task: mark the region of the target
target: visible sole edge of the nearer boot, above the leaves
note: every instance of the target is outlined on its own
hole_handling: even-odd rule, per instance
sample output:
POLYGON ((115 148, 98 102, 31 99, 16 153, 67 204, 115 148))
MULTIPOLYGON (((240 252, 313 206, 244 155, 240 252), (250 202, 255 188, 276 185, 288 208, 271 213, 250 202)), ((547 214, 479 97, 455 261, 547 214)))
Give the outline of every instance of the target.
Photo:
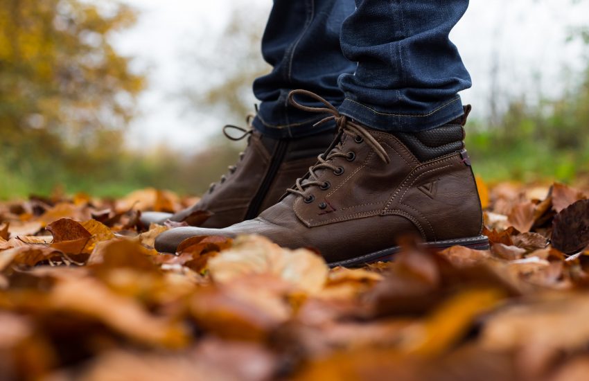
MULTIPOLYGON (((419 248, 429 251, 442 251, 448 249, 448 247, 463 246, 468 249, 474 250, 489 250, 489 238, 486 236, 478 236, 472 238, 461 238, 459 240, 446 240, 437 242, 427 242, 419 245, 419 248)), ((340 260, 333 263, 328 263, 329 267, 359 267, 363 265, 369 265, 376 262, 389 262, 401 251, 401 247, 391 247, 380 251, 375 251, 371 254, 359 256, 351 259, 340 260)))

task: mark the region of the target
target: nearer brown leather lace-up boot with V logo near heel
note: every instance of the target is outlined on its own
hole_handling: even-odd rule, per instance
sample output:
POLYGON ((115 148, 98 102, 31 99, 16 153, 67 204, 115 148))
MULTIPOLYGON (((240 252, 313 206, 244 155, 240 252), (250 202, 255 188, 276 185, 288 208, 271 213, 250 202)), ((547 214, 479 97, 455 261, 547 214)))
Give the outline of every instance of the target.
POLYGON ((407 236, 434 249, 489 248, 463 143, 470 108, 428 132, 391 134, 350 121, 322 102, 327 108, 313 111, 332 114, 328 119, 335 119, 340 134, 281 202, 226 229, 171 229, 157 238, 156 249, 175 252, 191 236, 260 234, 283 247, 317 249, 332 266, 352 266, 389 259, 407 236))

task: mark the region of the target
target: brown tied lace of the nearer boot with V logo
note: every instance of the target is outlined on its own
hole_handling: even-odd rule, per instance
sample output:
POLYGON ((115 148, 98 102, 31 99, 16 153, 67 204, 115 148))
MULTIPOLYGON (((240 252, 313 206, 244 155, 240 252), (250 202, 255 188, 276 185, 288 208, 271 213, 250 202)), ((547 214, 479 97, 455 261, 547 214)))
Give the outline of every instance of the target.
POLYGON ((315 196, 306 196, 305 191, 307 188, 310 188, 312 186, 319 186, 323 190, 326 190, 331 186, 331 184, 329 184, 328 182, 319 181, 319 177, 316 174, 317 170, 333 170, 333 173, 335 175, 343 175, 344 168, 341 166, 335 166, 333 164, 333 159, 335 159, 336 157, 345 157, 349 161, 353 161, 355 159, 354 152, 342 152, 342 136, 344 134, 346 134, 346 136, 349 136, 351 139, 354 139, 356 143, 367 143, 370 146, 370 148, 374 150, 374 152, 376 152, 378 157, 383 162, 387 164, 390 163, 391 160, 389 158, 389 155, 387 154, 387 151, 385 150, 385 148, 383 148, 382 145, 380 145, 380 143, 378 143, 378 141, 376 141, 374 136, 372 136, 364 127, 362 127, 358 123, 355 123, 347 116, 340 114, 340 112, 337 111, 337 108, 335 108, 333 105, 331 105, 331 103, 329 103, 321 96, 318 96, 317 94, 307 90, 294 90, 290 91, 290 94, 288 95, 288 100, 291 105, 303 111, 315 112, 318 114, 329 114, 329 116, 327 116, 326 118, 323 118, 321 121, 315 123, 314 127, 327 123, 328 121, 335 121, 338 130, 337 139, 335 139, 332 146, 328 149, 326 153, 320 154, 319 157, 317 157, 317 163, 315 164, 315 166, 309 168, 309 172, 305 177, 297 179, 294 188, 286 190, 288 193, 293 193, 295 195, 305 197, 305 202, 310 203, 313 202, 313 200, 315 200, 315 196), (323 103, 325 107, 308 107, 305 105, 301 105, 294 98, 298 95, 306 96, 308 98, 317 100, 320 103, 323 103))

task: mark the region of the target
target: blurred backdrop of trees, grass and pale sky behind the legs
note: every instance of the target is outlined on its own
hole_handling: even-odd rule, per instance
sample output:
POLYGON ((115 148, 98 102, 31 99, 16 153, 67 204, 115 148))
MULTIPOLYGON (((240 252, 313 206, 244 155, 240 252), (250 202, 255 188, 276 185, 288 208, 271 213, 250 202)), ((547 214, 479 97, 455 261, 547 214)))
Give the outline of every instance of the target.
MULTIPOLYGON (((244 142, 270 0, 2 0, 0 198, 199 194, 244 142)), ((452 40, 486 181, 589 175, 589 0, 471 1, 452 40)))

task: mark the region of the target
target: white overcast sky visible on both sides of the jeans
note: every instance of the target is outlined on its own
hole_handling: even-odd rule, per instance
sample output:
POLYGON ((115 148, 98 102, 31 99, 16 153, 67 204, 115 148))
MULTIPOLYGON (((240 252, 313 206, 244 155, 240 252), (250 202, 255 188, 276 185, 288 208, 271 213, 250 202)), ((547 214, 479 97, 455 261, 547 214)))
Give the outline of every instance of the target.
MULTIPOLYGON (((214 41, 229 19, 228 9, 238 2, 254 3, 265 12, 271 0, 125 0, 141 11, 139 22, 116 36, 121 53, 137 57, 134 65, 148 69, 150 86, 140 98, 141 116, 130 129, 132 146, 169 143, 182 150, 198 150, 225 123, 211 115, 202 121, 186 113, 186 105, 172 94, 182 78, 206 78, 186 72, 187 46, 215 54, 214 41), (183 62, 184 60, 184 62, 183 62)), ((294 1, 294 0, 293 0, 294 1)), ((262 12, 263 13, 263 12, 262 12)), ((547 95, 562 91, 564 67, 582 67, 580 44, 565 44, 569 26, 589 24, 589 1, 570 6, 568 0, 473 0, 466 16, 452 32, 473 89, 461 94, 472 103, 475 115, 489 112, 488 98, 493 64, 500 68, 500 89, 511 95, 547 95), (540 80, 538 80, 538 77, 540 80)), ((265 17, 265 15, 263 15, 265 17)))

